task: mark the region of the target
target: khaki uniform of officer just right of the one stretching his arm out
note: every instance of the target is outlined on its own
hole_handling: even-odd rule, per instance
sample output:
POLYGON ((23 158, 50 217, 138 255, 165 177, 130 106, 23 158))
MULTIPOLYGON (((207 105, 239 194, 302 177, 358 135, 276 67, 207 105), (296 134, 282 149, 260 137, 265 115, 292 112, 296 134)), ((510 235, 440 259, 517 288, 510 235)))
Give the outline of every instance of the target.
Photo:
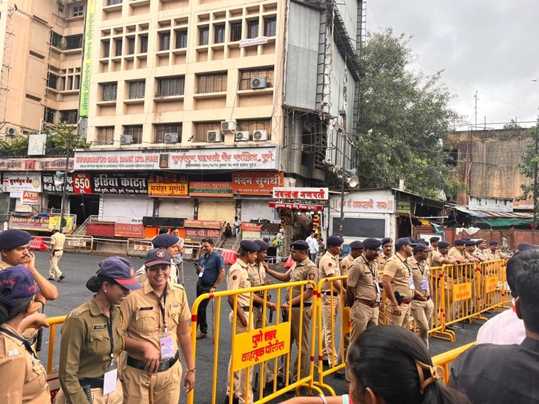
MULTIPOLYGON (((333 256, 330 251, 326 251, 318 264, 318 279, 340 275, 339 256, 333 256)), ((330 366, 334 366, 337 361, 337 347, 334 346, 337 333, 335 327, 332 332, 332 322, 335 326, 340 308, 340 293, 335 288, 331 288, 329 282, 322 283, 320 293, 322 302, 322 359, 327 359, 330 366)))

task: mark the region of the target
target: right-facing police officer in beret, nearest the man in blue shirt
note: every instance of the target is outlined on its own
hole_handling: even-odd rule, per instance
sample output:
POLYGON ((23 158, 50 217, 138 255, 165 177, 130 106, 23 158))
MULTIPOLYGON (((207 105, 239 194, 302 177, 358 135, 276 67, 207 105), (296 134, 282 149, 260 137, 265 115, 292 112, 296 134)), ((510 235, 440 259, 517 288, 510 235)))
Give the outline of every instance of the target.
MULTIPOLYGON (((251 288, 251 280, 249 274, 249 266, 254 265, 256 261, 256 253, 260 251, 260 246, 253 241, 244 240, 239 244, 239 258, 232 264, 227 273, 227 290, 241 290, 251 288)), ((253 311, 251 310, 251 294, 240 293, 237 298, 234 295, 229 295, 228 302, 232 308, 229 320, 235 334, 242 334, 253 329, 253 311), (237 301, 237 307, 234 300, 237 301), (235 316, 235 318, 234 318, 235 316), (235 327, 234 327, 235 324, 235 327)), ((263 305, 262 297, 254 294, 253 304, 258 303, 263 305)), ((227 373, 227 397, 224 403, 230 402, 231 391, 234 394, 232 403, 253 403, 253 388, 251 382, 253 380, 253 367, 244 368, 241 371, 234 372, 233 386, 231 388, 230 371, 232 370, 232 356, 230 356, 229 369, 227 373), (249 371, 249 380, 247 380, 247 372, 249 371)))

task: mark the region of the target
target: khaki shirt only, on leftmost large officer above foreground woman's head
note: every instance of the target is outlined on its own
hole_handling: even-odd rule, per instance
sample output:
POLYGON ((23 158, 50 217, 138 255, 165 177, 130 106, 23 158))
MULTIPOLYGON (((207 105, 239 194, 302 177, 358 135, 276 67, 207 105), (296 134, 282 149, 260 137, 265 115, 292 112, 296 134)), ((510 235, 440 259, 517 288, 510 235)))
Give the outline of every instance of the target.
POLYGON ((380 300, 378 268, 378 261, 368 261, 364 255, 354 260, 347 278, 347 288, 354 288, 354 298, 371 302, 380 300))

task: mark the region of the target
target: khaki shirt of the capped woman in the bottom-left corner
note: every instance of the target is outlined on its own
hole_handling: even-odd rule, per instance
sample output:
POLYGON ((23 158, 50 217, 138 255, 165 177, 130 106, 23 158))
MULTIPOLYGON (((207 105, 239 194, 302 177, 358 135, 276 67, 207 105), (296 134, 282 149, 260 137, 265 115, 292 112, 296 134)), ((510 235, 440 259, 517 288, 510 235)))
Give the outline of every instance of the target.
MULTIPOLYGON (((8 324, 0 327, 22 337, 8 324)), ((4 381, 0 393, 2 404, 50 403, 45 368, 26 351, 21 341, 4 332, 0 332, 0 375, 4 381)))

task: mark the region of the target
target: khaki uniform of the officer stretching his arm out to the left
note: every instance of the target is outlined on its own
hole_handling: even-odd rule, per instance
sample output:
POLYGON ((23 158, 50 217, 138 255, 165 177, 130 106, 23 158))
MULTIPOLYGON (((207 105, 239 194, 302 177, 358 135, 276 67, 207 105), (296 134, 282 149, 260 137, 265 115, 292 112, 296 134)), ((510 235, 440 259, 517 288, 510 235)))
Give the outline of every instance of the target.
MULTIPOLYGON (((310 261, 309 258, 303 260, 300 263, 294 262, 293 266, 286 272, 290 276, 290 282, 300 282, 302 280, 312 280, 314 283, 318 282, 318 268, 315 263, 310 261)), ((310 283, 305 286, 294 286, 292 288, 292 296, 286 292, 285 299, 290 302, 293 297, 301 295, 301 290, 305 288, 314 289, 315 287, 310 283)), ((301 312, 300 304, 290 305, 288 309, 288 321, 291 322, 290 327, 290 352, 292 352, 292 344, 295 342, 298 345, 298 357, 294 361, 293 377, 298 376, 298 364, 300 366, 300 378, 304 378, 309 373, 309 337, 310 337, 310 322, 312 319, 312 297, 307 300, 303 300, 303 312, 301 312), (303 315, 302 328, 300 330, 300 316, 303 315), (300 350, 301 344, 301 350, 300 350)), ((283 375, 283 366, 285 366, 285 358, 283 358, 283 364, 279 373, 283 375)))

